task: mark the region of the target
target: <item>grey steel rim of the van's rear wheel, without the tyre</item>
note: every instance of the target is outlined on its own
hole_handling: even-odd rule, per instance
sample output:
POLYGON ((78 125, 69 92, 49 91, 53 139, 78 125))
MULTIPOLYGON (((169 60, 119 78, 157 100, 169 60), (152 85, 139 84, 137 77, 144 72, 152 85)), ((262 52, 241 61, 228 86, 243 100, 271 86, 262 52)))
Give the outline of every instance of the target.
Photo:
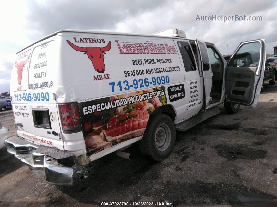
POLYGON ((163 152, 168 149, 171 142, 171 131, 167 124, 161 124, 155 132, 156 148, 163 152))

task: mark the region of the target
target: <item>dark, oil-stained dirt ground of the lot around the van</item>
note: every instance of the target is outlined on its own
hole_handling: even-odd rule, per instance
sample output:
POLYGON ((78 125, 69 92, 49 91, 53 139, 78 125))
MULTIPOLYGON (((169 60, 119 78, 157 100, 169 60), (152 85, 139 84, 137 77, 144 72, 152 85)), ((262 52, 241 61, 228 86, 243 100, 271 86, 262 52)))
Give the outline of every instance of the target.
MULTIPOLYGON (((75 169, 72 186, 48 184, 43 171, 31 171, 4 148, 0 205, 277 205, 277 84, 265 85, 257 108, 241 106, 236 114, 219 109, 217 116, 177 132, 168 159, 149 161, 135 144, 127 149, 134 155, 130 161, 112 153, 75 169)), ((0 122, 16 134, 11 110, 0 112, 0 122)))

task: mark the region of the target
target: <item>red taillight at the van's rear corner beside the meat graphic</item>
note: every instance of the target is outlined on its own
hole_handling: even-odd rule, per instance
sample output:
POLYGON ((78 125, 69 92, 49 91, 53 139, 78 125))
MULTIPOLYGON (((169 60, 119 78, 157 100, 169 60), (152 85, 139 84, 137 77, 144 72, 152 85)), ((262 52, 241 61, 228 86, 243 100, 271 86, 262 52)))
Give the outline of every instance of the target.
POLYGON ((77 102, 59 104, 59 110, 64 133, 75 133, 82 130, 77 102))

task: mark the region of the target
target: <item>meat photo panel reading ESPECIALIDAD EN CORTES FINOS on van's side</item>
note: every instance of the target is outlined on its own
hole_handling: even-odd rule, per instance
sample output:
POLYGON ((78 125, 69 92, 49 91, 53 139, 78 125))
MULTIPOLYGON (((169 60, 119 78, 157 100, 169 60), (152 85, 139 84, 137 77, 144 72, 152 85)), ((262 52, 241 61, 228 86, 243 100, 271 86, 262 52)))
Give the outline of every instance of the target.
POLYGON ((84 112, 80 116, 87 152, 98 153, 142 136, 151 114, 166 104, 165 87, 130 91, 80 103, 79 110, 84 112), (89 111, 89 108, 100 105, 101 110, 89 111))

